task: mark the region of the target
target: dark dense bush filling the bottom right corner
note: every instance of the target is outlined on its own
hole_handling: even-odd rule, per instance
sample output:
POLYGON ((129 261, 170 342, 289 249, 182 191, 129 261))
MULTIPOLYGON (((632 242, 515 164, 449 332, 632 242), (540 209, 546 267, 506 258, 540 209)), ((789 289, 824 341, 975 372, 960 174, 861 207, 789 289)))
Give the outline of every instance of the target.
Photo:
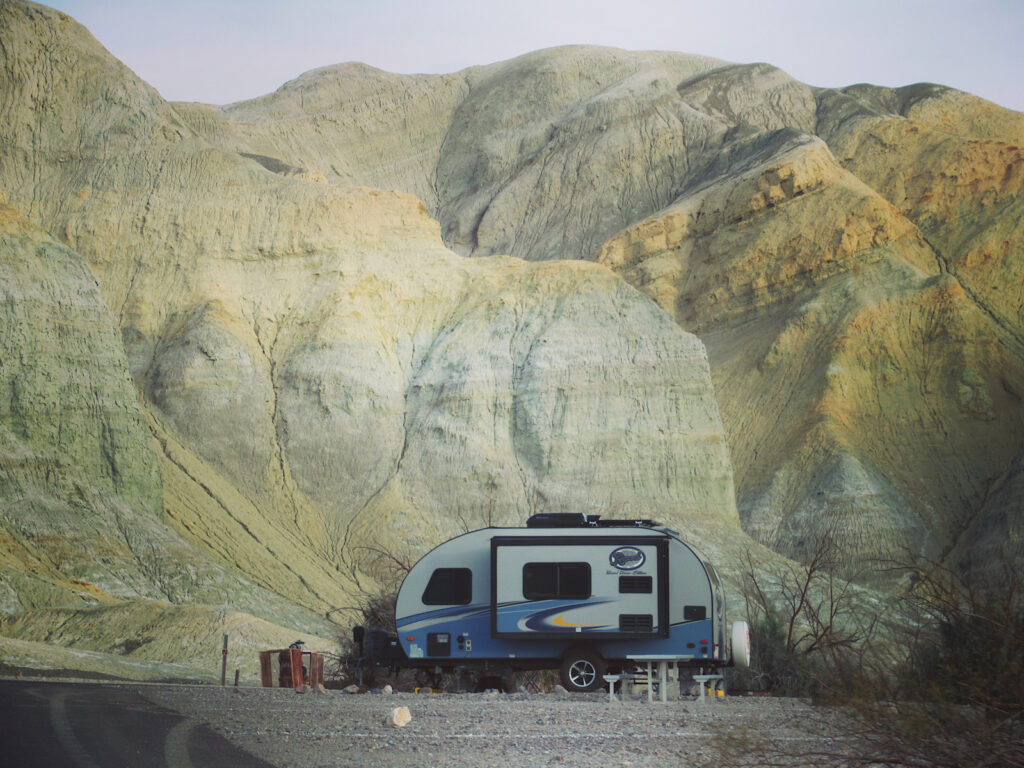
POLYGON ((857 710, 865 740, 903 766, 1024 766, 1024 584, 980 584, 937 563, 911 574, 897 640, 905 662, 884 707, 857 710))

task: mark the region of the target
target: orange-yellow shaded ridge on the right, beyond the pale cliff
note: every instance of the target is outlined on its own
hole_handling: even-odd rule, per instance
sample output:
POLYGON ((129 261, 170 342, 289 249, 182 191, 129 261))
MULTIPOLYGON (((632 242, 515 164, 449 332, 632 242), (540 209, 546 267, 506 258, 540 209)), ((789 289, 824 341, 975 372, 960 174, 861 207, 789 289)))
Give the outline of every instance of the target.
MULTIPOLYGON (((819 101, 827 143, 776 140, 598 260, 708 345, 749 532, 963 558, 1024 437, 1024 122, 944 89, 819 101)), ((1019 556, 994 540, 969 559, 1019 556)))

